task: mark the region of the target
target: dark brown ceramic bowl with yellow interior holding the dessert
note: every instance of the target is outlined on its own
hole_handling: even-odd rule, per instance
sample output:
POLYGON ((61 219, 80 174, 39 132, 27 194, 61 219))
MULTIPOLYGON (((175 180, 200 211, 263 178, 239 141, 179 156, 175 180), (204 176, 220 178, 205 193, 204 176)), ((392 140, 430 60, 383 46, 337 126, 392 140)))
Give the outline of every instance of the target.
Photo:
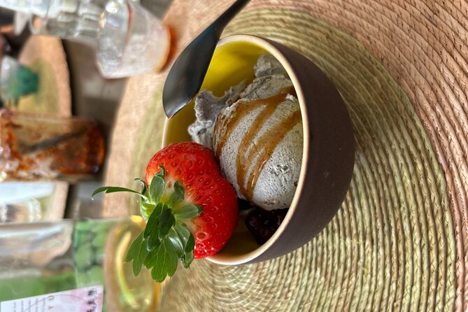
MULTIPOLYGON (((304 129, 299 183, 288 214, 271 239, 259 246, 240 218, 225 248, 208 258, 218 264, 269 260, 311 241, 338 211, 353 173, 353 128, 343 100, 327 76, 295 50, 257 36, 223 38, 201 88, 221 97, 229 87, 252 80, 253 66, 265 53, 283 64, 299 100, 304 129)), ((183 129, 193 121, 190 104, 166 121, 163 145, 190 141, 183 129)))

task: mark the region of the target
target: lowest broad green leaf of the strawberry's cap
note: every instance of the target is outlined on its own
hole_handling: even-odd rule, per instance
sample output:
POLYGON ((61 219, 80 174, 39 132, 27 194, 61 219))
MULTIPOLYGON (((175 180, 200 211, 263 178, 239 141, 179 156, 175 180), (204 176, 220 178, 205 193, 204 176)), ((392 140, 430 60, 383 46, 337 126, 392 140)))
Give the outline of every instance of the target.
POLYGON ((162 282, 166 276, 173 276, 177 269, 177 252, 171 241, 166 238, 159 247, 147 257, 146 267, 151 269, 151 276, 157 282, 162 282))

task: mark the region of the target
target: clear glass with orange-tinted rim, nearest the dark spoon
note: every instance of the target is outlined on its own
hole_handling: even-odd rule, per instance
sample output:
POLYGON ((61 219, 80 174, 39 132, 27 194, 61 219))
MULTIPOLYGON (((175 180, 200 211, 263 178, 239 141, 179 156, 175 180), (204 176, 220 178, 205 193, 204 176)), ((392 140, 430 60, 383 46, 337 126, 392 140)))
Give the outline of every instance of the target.
POLYGON ((166 62, 169 45, 167 27, 138 2, 107 3, 97 45, 97 64, 104 77, 157 71, 166 62))

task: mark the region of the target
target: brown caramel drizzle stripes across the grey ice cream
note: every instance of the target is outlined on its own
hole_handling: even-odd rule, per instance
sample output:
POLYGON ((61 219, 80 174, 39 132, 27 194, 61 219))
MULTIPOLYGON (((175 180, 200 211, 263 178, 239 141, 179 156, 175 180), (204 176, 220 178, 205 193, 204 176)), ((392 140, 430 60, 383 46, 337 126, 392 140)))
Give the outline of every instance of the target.
POLYGON ((257 184, 260 173, 264 165, 270 159, 276 146, 278 146, 284 136, 302 120, 301 112, 295 111, 260 136, 256 143, 253 141, 262 128, 264 120, 267 120, 274 113, 278 105, 285 101, 287 94, 295 94, 294 88, 288 87, 281 90, 280 94, 276 94, 273 97, 255 99, 236 106, 236 109, 232 112, 229 123, 227 123, 227 118, 225 116, 222 116, 222 118, 218 120, 218 122, 220 122, 220 127, 216 127, 215 129, 215 140, 220 139, 218 148, 216 149, 216 155, 220 156, 222 148, 225 146, 227 139, 229 139, 229 136, 239 124, 240 120, 255 108, 264 106, 262 111, 255 117, 255 120, 253 120, 252 125, 247 129, 245 136, 243 136, 236 158, 237 184, 239 185, 241 193, 247 200, 252 199, 253 191, 255 190, 255 185, 257 184), (255 155, 258 155, 257 159, 254 158, 255 155), (255 163, 253 159, 255 159, 255 163), (249 169, 250 174, 247 176, 249 169))

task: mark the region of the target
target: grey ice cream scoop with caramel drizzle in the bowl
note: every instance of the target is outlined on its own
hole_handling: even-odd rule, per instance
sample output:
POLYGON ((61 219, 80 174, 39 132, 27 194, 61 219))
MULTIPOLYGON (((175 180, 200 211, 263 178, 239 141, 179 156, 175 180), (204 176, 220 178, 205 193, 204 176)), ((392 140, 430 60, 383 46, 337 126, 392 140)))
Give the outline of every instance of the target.
POLYGON ((210 146, 237 196, 267 210, 287 208, 302 164, 302 118, 291 80, 271 55, 255 65, 255 79, 224 97, 201 92, 195 101, 194 141, 210 146), (233 104, 234 99, 238 98, 233 104))

